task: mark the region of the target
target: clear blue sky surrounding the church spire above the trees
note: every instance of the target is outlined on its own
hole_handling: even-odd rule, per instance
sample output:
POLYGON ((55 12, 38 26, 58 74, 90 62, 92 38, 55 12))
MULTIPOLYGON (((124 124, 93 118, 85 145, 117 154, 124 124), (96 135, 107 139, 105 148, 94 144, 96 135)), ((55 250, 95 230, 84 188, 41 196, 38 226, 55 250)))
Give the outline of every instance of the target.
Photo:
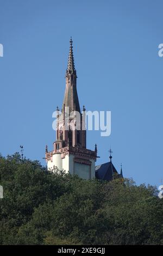
POLYGON ((80 106, 111 111, 111 135, 87 132, 109 160, 137 184, 159 186, 162 162, 162 1, 0 0, 0 152, 42 159, 55 139, 70 36, 80 106))

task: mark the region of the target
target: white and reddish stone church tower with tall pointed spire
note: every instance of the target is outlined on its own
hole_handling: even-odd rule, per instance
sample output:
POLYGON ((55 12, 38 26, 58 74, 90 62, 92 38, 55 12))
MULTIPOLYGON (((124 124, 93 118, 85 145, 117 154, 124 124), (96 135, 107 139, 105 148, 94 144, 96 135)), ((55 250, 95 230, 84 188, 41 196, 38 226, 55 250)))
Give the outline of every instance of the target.
POLYGON ((66 70, 66 89, 61 112, 57 107, 56 140, 48 152, 46 162, 49 170, 64 169, 83 179, 95 178, 95 151, 86 149, 85 107, 80 111, 77 93, 77 72, 74 66, 72 39, 66 70))

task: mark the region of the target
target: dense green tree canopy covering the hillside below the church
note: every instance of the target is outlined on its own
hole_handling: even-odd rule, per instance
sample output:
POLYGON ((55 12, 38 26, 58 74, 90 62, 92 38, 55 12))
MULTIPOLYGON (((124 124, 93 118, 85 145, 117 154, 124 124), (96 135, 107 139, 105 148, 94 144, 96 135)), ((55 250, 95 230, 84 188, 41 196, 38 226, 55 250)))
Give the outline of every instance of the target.
POLYGON ((0 156, 1 245, 163 245, 163 199, 133 180, 47 172, 0 156))

